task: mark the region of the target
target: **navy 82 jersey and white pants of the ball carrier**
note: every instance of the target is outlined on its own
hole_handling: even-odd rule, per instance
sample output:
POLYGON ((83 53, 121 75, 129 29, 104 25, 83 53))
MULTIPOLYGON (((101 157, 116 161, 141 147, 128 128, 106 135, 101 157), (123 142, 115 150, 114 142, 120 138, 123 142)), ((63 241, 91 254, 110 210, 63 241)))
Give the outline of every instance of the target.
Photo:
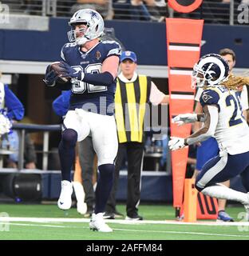
MULTIPOLYGON (((88 52, 81 52, 75 43, 67 43, 61 49, 61 58, 75 70, 84 73, 101 73, 102 62, 109 56, 119 56, 121 48, 117 42, 99 42, 88 52)), ((97 153, 98 166, 113 163, 117 154, 117 128, 113 116, 116 81, 111 85, 93 85, 71 79, 67 84, 72 95, 69 112, 65 115, 64 129, 77 131, 77 141, 89 134, 97 153)))

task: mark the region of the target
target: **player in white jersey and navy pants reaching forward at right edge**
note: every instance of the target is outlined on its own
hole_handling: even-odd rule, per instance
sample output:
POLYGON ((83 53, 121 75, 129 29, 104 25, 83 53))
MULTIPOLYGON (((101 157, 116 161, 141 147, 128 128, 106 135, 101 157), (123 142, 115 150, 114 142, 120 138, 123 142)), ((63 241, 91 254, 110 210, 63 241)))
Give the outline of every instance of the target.
POLYGON ((208 161, 196 177, 196 189, 214 198, 241 202, 249 214, 249 194, 219 184, 241 174, 249 191, 249 127, 243 117, 236 88, 249 78, 228 76, 228 64, 218 54, 207 54, 194 66, 192 85, 204 88, 200 97, 204 114, 180 114, 176 123, 204 122, 188 138, 172 138, 170 150, 179 150, 211 136, 219 144, 219 155, 208 161))

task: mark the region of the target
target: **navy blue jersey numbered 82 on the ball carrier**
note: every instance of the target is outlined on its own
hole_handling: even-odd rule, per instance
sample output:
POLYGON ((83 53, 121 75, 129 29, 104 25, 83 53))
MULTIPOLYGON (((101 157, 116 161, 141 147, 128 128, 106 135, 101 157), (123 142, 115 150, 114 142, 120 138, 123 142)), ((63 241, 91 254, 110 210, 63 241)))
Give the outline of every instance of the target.
MULTIPOLYGON (((102 63, 109 56, 121 55, 121 46, 115 41, 99 42, 87 52, 80 49, 75 43, 66 43, 61 49, 61 58, 75 70, 90 74, 101 73, 102 63)), ((69 110, 83 108, 97 114, 113 115, 116 80, 109 86, 74 81, 70 87, 72 95, 69 110)))

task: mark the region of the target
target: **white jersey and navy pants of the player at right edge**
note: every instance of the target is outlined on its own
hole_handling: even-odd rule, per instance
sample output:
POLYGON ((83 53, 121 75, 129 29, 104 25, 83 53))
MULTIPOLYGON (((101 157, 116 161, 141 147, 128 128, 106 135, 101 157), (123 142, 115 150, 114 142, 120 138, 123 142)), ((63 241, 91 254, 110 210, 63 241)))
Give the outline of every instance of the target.
POLYGON ((245 182, 245 179, 249 180, 249 127, 242 114, 239 95, 233 90, 217 86, 204 90, 200 104, 218 108, 214 137, 220 152, 204 165, 196 178, 196 188, 202 190, 243 173, 243 183, 249 191, 249 184, 245 182))

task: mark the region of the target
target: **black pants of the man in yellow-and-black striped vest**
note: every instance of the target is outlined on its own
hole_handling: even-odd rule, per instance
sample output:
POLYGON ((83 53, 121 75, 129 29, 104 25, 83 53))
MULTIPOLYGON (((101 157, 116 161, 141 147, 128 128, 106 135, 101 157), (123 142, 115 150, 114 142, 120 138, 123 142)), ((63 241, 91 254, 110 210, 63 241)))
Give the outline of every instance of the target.
POLYGON ((140 178, 141 169, 144 158, 144 144, 140 142, 119 143, 117 160, 115 165, 115 174, 113 182, 113 190, 107 202, 106 211, 114 212, 116 210, 116 194, 124 156, 127 154, 128 161, 128 186, 127 186, 127 203, 126 213, 128 217, 136 216, 137 206, 140 202, 140 178))

